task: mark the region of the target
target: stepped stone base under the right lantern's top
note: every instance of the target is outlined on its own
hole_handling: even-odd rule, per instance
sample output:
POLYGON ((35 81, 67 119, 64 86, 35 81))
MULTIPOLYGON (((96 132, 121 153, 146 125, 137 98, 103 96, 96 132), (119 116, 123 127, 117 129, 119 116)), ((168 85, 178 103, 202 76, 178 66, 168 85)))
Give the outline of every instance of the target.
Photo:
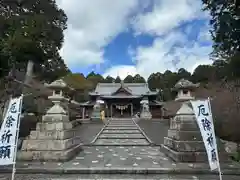
MULTIPOLYGON (((226 154, 219 144, 218 148, 221 161, 226 161, 226 154)), ((194 111, 187 102, 182 104, 171 120, 168 135, 164 137, 162 151, 176 162, 208 162, 194 111)))

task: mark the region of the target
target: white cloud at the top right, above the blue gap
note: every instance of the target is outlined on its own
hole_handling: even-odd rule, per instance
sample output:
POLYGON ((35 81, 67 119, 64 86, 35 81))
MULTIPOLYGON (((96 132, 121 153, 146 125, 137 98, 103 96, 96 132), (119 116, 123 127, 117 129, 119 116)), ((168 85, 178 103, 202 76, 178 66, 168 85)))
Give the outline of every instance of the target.
POLYGON ((201 7, 196 0, 156 0, 153 11, 137 16, 133 26, 137 33, 162 35, 186 21, 205 17, 201 7))

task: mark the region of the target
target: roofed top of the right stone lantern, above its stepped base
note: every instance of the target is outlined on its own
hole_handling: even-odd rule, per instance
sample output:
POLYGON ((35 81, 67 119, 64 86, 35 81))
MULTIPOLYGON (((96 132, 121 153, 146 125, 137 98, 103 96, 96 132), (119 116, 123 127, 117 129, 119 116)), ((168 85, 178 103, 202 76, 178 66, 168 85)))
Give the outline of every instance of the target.
POLYGON ((199 87, 199 84, 194 84, 186 79, 179 80, 173 90, 177 92, 175 101, 188 101, 195 99, 192 92, 199 87))

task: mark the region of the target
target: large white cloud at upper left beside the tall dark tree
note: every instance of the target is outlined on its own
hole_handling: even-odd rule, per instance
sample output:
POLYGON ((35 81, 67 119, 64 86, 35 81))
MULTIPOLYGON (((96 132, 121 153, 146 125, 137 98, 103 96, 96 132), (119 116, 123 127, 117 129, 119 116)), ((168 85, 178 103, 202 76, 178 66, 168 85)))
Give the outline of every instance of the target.
POLYGON ((137 0, 57 0, 68 16, 68 29, 60 53, 66 64, 86 66, 104 61, 104 46, 127 28, 137 0))

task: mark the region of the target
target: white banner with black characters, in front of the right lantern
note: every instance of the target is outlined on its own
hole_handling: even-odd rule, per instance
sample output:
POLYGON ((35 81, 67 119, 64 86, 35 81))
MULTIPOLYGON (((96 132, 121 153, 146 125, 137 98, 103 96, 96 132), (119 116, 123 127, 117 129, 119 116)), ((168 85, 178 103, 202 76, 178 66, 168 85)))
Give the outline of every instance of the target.
POLYGON ((217 142, 209 100, 191 101, 211 170, 219 168, 217 142))

